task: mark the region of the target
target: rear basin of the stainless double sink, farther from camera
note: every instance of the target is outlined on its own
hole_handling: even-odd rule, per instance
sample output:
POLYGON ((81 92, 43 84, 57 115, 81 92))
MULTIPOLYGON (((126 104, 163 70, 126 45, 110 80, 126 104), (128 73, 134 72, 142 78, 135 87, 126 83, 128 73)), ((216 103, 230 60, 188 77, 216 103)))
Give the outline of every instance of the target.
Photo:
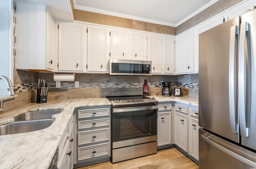
POLYGON ((26 112, 14 117, 14 121, 25 121, 25 120, 41 120, 41 119, 50 119, 52 115, 58 114, 63 110, 42 110, 34 112, 26 112))

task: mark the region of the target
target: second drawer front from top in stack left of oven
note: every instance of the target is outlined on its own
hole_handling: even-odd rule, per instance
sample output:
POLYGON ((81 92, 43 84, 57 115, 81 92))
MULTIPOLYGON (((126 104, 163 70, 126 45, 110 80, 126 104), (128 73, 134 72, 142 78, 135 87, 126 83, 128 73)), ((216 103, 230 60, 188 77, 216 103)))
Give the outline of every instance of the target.
POLYGON ((78 129, 98 129, 98 128, 103 128, 109 127, 109 118, 102 118, 102 119, 97 119, 97 120, 82 120, 78 121, 78 129))

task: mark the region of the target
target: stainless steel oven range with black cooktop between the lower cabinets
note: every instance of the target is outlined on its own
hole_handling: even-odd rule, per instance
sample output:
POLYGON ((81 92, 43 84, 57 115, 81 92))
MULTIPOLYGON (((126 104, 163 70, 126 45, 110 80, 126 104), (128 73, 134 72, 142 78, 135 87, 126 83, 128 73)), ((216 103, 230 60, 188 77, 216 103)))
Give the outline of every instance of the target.
POLYGON ((145 96, 107 96, 112 102, 112 163, 156 153, 157 104, 145 96))

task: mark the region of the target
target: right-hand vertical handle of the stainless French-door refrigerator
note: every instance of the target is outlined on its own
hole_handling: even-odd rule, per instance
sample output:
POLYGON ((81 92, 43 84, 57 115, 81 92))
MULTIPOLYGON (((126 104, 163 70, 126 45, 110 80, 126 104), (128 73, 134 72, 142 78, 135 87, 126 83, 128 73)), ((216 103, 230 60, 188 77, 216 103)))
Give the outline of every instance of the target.
MULTIPOLYGON (((238 52, 238 110, 241 136, 249 137, 249 128, 246 127, 246 58, 245 43, 246 32, 250 31, 250 24, 244 22, 240 26, 239 52, 238 52)), ((249 44, 248 44, 249 45, 249 44)))

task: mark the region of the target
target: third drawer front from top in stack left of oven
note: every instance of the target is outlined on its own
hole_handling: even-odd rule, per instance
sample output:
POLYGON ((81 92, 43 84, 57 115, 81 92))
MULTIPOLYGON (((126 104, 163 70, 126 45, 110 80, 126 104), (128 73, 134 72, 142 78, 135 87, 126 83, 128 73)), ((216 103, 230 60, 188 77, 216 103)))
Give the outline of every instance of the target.
POLYGON ((78 132, 78 145, 109 141, 109 130, 78 132))

